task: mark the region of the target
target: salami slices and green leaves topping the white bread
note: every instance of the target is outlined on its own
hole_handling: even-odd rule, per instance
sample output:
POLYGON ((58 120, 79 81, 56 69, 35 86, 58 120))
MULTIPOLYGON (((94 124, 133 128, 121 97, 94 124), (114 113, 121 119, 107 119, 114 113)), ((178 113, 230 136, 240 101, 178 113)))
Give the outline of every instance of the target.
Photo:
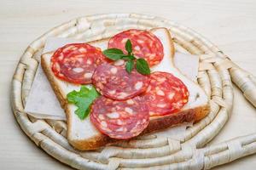
POLYGON ((61 80, 96 87, 81 86, 67 94, 81 120, 90 114, 100 132, 113 139, 131 139, 148 126, 150 116, 176 113, 188 102, 189 91, 180 79, 167 72, 150 73, 149 66, 163 57, 158 37, 131 29, 110 38, 103 53, 88 43, 58 48, 51 69, 61 80))

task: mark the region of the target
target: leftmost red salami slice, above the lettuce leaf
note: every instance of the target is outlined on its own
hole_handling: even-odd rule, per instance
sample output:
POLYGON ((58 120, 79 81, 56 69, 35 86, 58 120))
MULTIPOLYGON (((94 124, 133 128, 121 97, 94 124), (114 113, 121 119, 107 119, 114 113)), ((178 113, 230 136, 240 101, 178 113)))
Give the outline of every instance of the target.
POLYGON ((72 43, 58 48, 51 57, 55 77, 78 84, 91 83, 97 65, 107 59, 100 48, 88 43, 72 43))

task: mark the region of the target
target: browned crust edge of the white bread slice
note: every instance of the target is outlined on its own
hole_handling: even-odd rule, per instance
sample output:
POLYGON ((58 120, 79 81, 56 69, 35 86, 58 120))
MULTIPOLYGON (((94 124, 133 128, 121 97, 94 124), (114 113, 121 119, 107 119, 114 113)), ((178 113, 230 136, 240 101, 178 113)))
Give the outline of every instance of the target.
MULTIPOLYGON (((171 38, 171 42, 172 42, 172 37, 170 36, 169 38, 171 38)), ((100 42, 100 41, 104 41, 104 40, 96 40, 96 41, 90 42, 90 43, 100 42)), ((171 50, 172 50, 172 56, 173 56, 174 52, 175 52, 173 43, 172 43, 171 50)), ((102 133, 94 136, 91 139, 80 139, 80 140, 69 139, 70 132, 68 129, 70 129, 72 126, 72 124, 69 122, 69 120, 70 120, 69 117, 70 117, 70 114, 73 114, 73 113, 71 113, 71 111, 69 111, 67 99, 66 99, 66 96, 64 96, 65 93, 61 92, 61 89, 58 88, 57 82, 55 80, 56 77, 54 76, 53 72, 51 71, 50 65, 47 64, 47 61, 46 61, 47 56, 44 56, 44 55, 46 55, 46 54, 43 54, 41 57, 41 65, 42 65, 42 68, 44 70, 46 77, 48 78, 48 80, 51 84, 51 87, 54 89, 57 99, 59 99, 59 101, 61 103, 61 107, 66 112, 67 139, 68 139, 69 143, 72 144, 73 147, 78 150, 96 150, 102 146, 119 142, 120 140, 111 139, 107 135, 104 135, 102 133)), ((201 105, 201 106, 195 107, 193 109, 179 111, 177 113, 174 113, 174 114, 171 114, 168 116, 160 116, 160 117, 150 118, 148 127, 143 131, 142 134, 153 133, 155 131, 165 129, 167 127, 173 127, 178 124, 185 123, 185 122, 198 122, 202 118, 207 116, 209 111, 210 111, 210 105, 209 105, 209 103, 207 103, 207 105, 201 105)))

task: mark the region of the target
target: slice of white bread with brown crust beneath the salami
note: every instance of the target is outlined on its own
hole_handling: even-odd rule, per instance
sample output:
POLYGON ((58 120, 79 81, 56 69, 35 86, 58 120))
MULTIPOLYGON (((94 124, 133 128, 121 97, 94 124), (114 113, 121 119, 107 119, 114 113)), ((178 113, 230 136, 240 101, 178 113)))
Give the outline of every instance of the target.
MULTIPOLYGON (((183 106, 182 111, 169 116, 158 116, 150 118, 148 127, 143 131, 145 133, 152 133, 157 130, 172 127, 183 122, 196 122, 201 120, 210 110, 207 94, 195 82, 183 76, 173 65, 174 45, 170 32, 166 28, 155 28, 151 30, 156 37, 160 39, 164 46, 164 59, 159 65, 151 68, 151 71, 166 71, 172 73, 174 76, 180 78, 189 89, 189 102, 183 106)), ((89 42, 91 45, 102 50, 108 48, 108 39, 89 42)), ((117 142, 116 139, 110 139, 107 135, 100 133, 96 127, 90 122, 88 116, 83 121, 79 119, 74 111, 77 109, 75 105, 67 103, 67 94, 73 90, 79 90, 79 85, 74 85, 69 82, 63 82, 51 71, 50 58, 52 53, 42 55, 41 65, 46 76, 55 91, 56 96, 61 102, 62 108, 67 115, 67 139, 74 148, 78 150, 95 150, 106 144, 117 142)))

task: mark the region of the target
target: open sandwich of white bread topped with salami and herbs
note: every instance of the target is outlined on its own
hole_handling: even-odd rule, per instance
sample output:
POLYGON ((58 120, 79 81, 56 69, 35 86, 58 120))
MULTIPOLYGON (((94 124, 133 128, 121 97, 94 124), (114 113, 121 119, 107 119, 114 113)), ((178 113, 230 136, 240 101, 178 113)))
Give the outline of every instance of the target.
POLYGON ((207 94, 175 67, 174 53, 170 31, 154 28, 42 54, 69 143, 96 150, 207 116, 207 94))

